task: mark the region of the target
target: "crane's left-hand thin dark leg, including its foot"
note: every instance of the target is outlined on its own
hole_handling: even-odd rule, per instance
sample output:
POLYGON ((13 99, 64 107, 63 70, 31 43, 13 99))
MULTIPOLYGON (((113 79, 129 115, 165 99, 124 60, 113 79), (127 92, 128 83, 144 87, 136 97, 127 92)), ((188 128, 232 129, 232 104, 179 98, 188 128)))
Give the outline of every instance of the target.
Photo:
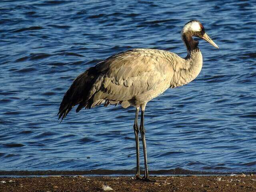
POLYGON ((134 120, 134 134, 135 134, 135 141, 136 141, 136 175, 134 176, 136 180, 140 179, 140 146, 139 146, 139 127, 138 127, 138 114, 139 114, 140 108, 136 108, 136 115, 134 120))

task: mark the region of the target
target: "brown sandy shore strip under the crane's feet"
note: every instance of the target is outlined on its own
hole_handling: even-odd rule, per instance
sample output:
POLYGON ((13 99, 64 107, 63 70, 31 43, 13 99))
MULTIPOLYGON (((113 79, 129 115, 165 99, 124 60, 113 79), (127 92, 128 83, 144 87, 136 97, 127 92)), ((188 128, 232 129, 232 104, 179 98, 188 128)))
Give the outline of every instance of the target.
POLYGON ((2 177, 0 192, 256 192, 256 176, 154 176, 154 182, 128 176, 2 177))

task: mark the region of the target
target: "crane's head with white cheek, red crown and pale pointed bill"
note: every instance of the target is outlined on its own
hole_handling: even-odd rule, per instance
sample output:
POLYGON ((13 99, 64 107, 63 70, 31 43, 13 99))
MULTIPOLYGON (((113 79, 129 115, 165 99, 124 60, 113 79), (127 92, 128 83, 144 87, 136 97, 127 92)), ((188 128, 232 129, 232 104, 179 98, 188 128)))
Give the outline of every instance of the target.
POLYGON ((212 46, 219 48, 213 42, 213 40, 206 34, 204 26, 198 20, 191 20, 190 22, 187 22, 182 28, 181 35, 182 38, 184 38, 184 36, 194 36, 202 38, 206 40, 208 43, 210 43, 212 46))

